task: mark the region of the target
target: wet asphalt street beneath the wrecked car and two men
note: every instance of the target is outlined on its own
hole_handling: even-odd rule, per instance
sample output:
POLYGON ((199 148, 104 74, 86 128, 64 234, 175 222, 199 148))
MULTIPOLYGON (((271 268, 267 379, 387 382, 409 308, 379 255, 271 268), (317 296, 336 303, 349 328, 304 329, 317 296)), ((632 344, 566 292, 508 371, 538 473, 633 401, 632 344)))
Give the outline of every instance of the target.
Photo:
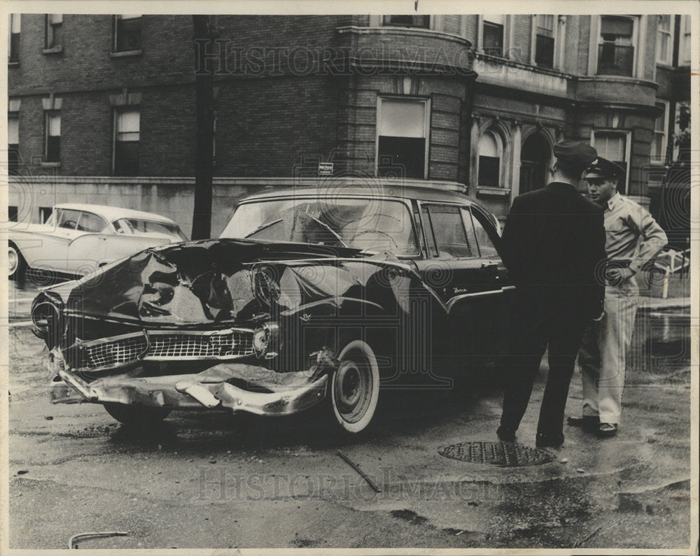
MULTIPOLYGON (((10 548, 68 548, 75 534, 114 531, 127 536, 80 548, 691 550, 682 308, 638 315, 615 439, 565 427, 552 461, 499 467, 438 452, 498 440, 502 387, 486 372, 449 391, 382 391, 371 429, 353 441, 315 410, 173 413, 144 433, 99 405, 52 405, 43 342, 22 324, 35 288, 10 287, 10 548)), ((544 378, 519 430, 531 447, 544 378)), ((580 404, 576 374, 567 414, 580 404)))

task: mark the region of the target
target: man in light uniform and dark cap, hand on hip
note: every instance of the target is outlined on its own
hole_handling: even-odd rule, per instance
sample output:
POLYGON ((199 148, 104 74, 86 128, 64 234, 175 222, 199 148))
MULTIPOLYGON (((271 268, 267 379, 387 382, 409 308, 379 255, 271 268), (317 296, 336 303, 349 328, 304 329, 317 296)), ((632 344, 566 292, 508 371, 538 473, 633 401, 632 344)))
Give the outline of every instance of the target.
POLYGON ((602 438, 615 436, 622 411, 625 356, 632 339, 639 288, 634 278, 666 245, 664 230, 652 215, 617 192, 624 169, 604 158, 584 174, 591 200, 605 218, 604 316, 584 334, 578 352, 583 378, 582 417, 568 418, 574 427, 593 429, 602 438))

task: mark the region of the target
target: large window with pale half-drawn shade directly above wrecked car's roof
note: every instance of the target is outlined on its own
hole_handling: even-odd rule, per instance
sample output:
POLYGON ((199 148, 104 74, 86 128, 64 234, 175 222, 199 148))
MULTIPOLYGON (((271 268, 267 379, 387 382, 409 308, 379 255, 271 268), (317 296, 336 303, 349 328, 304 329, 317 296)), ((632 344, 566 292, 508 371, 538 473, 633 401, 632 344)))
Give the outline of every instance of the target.
POLYGON ((379 98, 377 175, 427 178, 428 101, 379 98))

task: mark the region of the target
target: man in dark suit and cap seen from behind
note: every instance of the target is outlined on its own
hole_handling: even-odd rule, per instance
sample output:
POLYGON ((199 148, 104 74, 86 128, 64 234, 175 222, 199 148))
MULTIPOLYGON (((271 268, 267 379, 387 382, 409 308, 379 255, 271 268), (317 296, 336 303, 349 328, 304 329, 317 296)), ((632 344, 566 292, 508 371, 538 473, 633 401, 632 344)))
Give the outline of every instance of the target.
POLYGON ((586 325, 602 315, 605 294, 596 276, 605 262, 603 211, 576 190, 596 150, 563 141, 554 145, 554 156, 554 179, 514 199, 502 238, 503 262, 516 286, 517 322, 497 434, 514 441, 549 348, 538 447, 563 443, 564 406, 576 354, 586 325))

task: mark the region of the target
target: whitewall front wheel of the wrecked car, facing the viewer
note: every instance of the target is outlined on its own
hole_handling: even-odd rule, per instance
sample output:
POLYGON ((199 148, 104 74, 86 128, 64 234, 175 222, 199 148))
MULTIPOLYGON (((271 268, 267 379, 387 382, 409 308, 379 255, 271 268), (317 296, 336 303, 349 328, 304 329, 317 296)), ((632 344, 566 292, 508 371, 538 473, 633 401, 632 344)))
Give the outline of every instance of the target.
POLYGON ((353 340, 345 345, 329 387, 339 427, 353 434, 365 429, 379 399, 379 365, 369 344, 353 340))

